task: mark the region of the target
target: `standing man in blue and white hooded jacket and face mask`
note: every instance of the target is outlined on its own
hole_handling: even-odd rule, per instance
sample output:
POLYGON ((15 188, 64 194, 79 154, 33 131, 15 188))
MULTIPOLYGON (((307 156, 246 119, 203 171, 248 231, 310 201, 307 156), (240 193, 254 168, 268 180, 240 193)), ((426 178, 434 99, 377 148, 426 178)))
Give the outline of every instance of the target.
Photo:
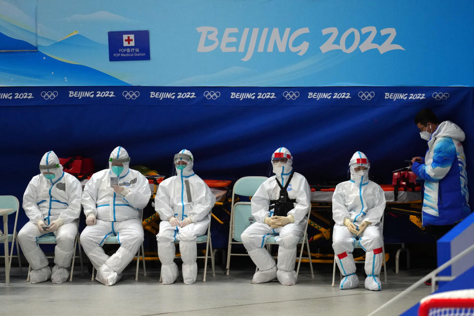
POLYGON ((425 158, 412 158, 412 171, 425 180, 422 223, 453 225, 471 213, 463 130, 453 122, 439 123, 423 109, 415 117, 420 136, 428 141, 425 158))

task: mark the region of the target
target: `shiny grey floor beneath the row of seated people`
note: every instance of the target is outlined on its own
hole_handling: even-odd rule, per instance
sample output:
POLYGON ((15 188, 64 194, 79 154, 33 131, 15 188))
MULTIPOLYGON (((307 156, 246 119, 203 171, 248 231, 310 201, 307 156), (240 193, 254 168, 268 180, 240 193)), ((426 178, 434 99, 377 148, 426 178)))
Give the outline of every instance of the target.
MULTIPOLYGON (((298 283, 283 286, 277 281, 251 284, 254 270, 231 270, 225 276, 222 267, 216 267, 216 276, 210 273, 203 283, 203 269, 198 281, 184 285, 181 276, 171 285, 158 282, 157 269, 139 275, 129 266, 122 279, 114 286, 90 281, 84 267, 80 276, 77 266, 73 282, 52 284, 50 281, 30 284, 13 268, 11 283, 6 286, 4 270, 0 268, 1 315, 367 315, 430 271, 413 269, 398 275, 388 270, 388 283, 382 283, 381 292, 364 288, 363 268, 357 266, 360 285, 352 290, 331 287, 332 265, 315 265, 311 278, 308 264, 302 264, 298 283)), ((24 273, 27 269, 23 268, 24 273)), ((336 276, 339 284, 339 276, 336 276)), ((336 284, 336 285, 337 285, 336 284)), ((380 316, 399 315, 430 293, 429 286, 419 287, 410 295, 382 311, 380 316)))

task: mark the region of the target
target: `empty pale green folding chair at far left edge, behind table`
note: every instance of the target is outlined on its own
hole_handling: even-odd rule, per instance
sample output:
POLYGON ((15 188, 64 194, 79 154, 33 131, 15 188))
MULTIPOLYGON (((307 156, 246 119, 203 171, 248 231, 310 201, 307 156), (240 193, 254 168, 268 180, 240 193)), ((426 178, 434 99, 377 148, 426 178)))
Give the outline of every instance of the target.
MULTIPOLYGON (((5 254, 1 257, 8 257, 8 267, 5 266, 5 274, 10 275, 10 269, 11 269, 11 259, 13 257, 18 258, 18 265, 20 266, 20 274, 23 276, 23 269, 21 266, 21 256, 20 256, 20 247, 18 246, 18 241, 16 240, 17 236, 17 231, 16 231, 16 225, 18 223, 18 209, 20 208, 20 202, 18 201, 18 198, 14 196, 0 196, 0 208, 7 208, 11 209, 12 211, 8 212, 6 215, 10 215, 13 213, 15 214, 15 224, 13 226, 13 234, 5 234, 2 235, 0 231, 0 243, 4 242, 5 243, 5 254), (13 255, 13 248, 15 247, 15 241, 16 241, 16 256, 13 255), (8 243, 11 242, 11 248, 10 248, 10 255, 8 256, 8 243)), ((5 232, 6 233, 6 232, 5 232)), ((5 258, 7 258, 5 257, 5 258)), ((6 265, 6 260, 5 260, 5 265, 6 265)))

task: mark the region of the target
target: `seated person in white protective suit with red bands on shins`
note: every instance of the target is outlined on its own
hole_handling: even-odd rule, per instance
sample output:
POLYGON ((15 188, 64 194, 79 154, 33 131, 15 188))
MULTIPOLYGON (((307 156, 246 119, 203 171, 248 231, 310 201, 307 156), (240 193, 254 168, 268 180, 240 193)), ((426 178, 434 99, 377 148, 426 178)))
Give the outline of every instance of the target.
POLYGON ((356 152, 349 162, 351 180, 336 186, 332 196, 332 218, 336 224, 332 234, 334 259, 344 276, 340 289, 359 286, 356 263, 352 252, 359 240, 365 251, 365 288, 380 291, 379 274, 382 267, 382 224, 385 194, 382 188, 368 178, 369 159, 356 152))

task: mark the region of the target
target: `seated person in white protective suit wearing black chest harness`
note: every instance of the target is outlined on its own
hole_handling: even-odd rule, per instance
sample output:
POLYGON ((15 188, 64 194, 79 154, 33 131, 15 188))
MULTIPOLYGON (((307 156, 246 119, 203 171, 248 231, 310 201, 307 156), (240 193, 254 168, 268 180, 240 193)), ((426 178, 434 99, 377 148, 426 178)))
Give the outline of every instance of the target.
POLYGON ((252 283, 278 278, 283 285, 296 284, 296 245, 303 237, 311 209, 311 190, 306 178, 294 172, 293 156, 288 149, 278 148, 272 155, 272 176, 265 180, 251 199, 255 223, 247 227, 241 238, 245 249, 258 267, 252 283), (274 235, 278 244, 277 264, 265 248, 274 235))

